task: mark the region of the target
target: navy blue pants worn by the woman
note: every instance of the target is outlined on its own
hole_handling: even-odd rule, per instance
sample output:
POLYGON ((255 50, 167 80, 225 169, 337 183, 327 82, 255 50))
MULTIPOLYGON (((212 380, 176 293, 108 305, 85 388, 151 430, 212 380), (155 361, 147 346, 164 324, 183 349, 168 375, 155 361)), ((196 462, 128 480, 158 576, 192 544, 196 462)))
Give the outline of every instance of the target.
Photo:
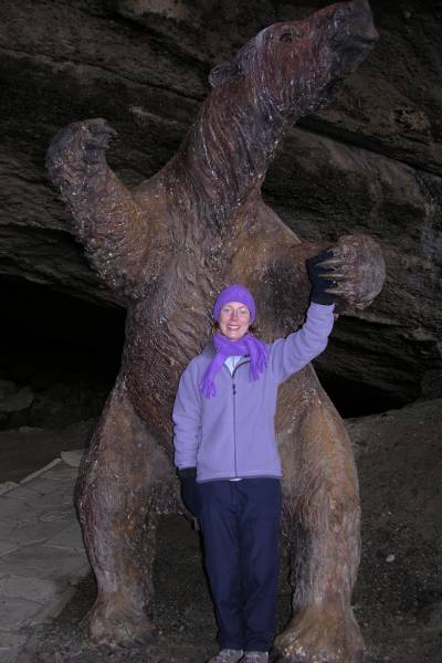
POLYGON ((213 481, 198 488, 219 644, 269 651, 277 600, 281 482, 213 481))

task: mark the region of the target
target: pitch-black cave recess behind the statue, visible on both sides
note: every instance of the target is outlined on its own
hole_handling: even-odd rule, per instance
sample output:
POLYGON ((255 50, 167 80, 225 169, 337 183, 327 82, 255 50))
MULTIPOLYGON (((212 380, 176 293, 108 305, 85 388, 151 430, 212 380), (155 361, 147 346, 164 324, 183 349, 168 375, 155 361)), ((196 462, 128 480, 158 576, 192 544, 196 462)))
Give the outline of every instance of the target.
MULTIPOLYGON (((24 280, 3 277, 1 283, 0 435, 61 431, 84 422, 92 430, 119 369, 125 311, 24 280)), ((317 370, 345 418, 404 404, 317 370)))

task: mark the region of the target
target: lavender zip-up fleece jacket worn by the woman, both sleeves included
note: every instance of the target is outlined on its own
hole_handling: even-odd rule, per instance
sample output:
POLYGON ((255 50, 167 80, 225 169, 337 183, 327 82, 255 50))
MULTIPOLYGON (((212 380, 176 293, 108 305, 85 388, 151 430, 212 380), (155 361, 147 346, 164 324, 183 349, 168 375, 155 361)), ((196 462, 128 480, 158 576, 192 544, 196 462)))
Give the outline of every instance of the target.
POLYGON ((334 308, 312 303, 303 327, 269 346, 269 364, 259 380, 250 379, 248 357, 233 373, 224 365, 214 398, 199 390, 213 347, 189 362, 172 414, 178 469, 196 466, 198 482, 282 475, 274 428, 277 388, 326 348, 334 308))

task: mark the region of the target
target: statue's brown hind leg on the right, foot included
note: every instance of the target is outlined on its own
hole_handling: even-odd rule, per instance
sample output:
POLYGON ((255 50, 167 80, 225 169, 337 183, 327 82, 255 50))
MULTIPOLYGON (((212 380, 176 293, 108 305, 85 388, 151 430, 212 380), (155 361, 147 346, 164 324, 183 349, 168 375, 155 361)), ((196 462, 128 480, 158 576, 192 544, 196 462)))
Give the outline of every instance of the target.
POLYGON ((281 390, 284 534, 293 618, 275 640, 277 661, 359 663, 364 643, 351 610, 360 555, 356 467, 344 422, 307 367, 281 390), (301 403, 296 411, 290 403, 301 403), (284 414, 284 410, 292 410, 284 414))

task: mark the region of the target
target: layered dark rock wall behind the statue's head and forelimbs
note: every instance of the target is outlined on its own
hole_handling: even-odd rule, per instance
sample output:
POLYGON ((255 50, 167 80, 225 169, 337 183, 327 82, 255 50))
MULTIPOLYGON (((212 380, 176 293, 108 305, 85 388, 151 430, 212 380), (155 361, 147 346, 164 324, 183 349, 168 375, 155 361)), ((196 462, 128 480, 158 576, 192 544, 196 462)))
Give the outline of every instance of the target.
MULTIPOLYGON (((110 166, 133 186, 176 151, 214 64, 261 27, 325 4, 4 0, 0 274, 122 305, 73 240, 44 171, 50 138, 105 117, 119 134, 110 166)), ((383 292, 343 316, 317 361, 344 413, 350 391, 392 404, 442 393, 442 12, 423 0, 371 4, 376 51, 330 107, 293 129, 264 186, 303 240, 365 232, 382 245, 383 292)))

